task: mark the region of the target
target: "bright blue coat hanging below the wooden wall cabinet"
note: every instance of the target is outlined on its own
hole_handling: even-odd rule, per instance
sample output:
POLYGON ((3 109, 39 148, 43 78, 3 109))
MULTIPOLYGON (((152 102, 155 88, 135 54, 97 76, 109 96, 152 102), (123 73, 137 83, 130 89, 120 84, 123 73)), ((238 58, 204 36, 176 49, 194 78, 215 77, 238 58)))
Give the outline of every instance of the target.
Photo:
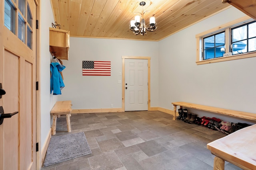
POLYGON ((53 91, 53 95, 61 94, 61 89, 65 87, 64 82, 62 80, 62 76, 60 72, 66 68, 64 65, 60 65, 60 63, 51 63, 50 71, 51 71, 51 94, 53 91))

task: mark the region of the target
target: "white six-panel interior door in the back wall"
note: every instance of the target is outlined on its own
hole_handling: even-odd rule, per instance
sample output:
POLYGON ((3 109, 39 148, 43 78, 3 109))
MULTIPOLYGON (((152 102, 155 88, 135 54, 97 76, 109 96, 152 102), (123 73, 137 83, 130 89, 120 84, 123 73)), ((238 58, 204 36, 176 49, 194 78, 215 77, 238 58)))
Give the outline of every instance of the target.
POLYGON ((125 111, 148 110, 148 60, 125 59, 125 111))

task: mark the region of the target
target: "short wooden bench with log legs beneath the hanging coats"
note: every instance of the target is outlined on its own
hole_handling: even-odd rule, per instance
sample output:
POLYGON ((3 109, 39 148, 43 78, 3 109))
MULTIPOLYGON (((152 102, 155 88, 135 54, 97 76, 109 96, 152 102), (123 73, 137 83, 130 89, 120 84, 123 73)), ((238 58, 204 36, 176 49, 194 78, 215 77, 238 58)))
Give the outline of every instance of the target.
POLYGON ((52 114, 52 117, 53 117, 52 135, 56 134, 57 117, 60 115, 66 115, 68 132, 71 132, 71 125, 70 125, 70 116, 71 116, 70 112, 72 111, 71 106, 72 106, 71 101, 68 100, 68 101, 58 101, 52 107, 52 110, 50 111, 50 114, 52 114))

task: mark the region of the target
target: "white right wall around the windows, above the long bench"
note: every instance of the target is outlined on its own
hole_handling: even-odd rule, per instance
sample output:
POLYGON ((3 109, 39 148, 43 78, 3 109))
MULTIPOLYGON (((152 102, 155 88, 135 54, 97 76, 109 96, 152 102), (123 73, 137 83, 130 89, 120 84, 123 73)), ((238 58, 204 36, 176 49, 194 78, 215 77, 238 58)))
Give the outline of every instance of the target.
POLYGON ((159 107, 190 102, 256 113, 256 57, 195 63, 195 35, 242 16, 232 7, 159 42, 159 107))

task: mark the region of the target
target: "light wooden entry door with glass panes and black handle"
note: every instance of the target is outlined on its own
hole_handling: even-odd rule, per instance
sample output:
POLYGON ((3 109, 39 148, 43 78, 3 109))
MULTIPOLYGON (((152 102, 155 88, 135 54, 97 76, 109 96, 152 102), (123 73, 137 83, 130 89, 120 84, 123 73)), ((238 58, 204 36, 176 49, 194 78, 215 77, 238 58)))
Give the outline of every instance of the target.
POLYGON ((36 169, 36 4, 1 0, 0 99, 4 113, 18 114, 0 125, 0 169, 36 169))

